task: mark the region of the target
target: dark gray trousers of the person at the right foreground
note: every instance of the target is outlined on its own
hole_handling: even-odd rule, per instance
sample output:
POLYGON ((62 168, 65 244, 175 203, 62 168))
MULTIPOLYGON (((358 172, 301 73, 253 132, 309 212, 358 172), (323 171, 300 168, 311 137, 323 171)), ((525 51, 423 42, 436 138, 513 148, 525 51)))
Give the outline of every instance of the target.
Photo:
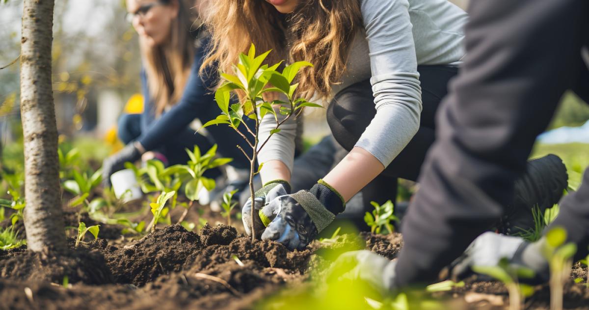
MULTIPOLYGON (((465 61, 403 220, 398 285, 435 280, 499 219, 561 95, 573 88, 587 100, 587 0, 474 0, 469 11, 465 61)), ((561 201, 557 225, 577 243, 576 257, 586 255, 589 172, 561 201)))

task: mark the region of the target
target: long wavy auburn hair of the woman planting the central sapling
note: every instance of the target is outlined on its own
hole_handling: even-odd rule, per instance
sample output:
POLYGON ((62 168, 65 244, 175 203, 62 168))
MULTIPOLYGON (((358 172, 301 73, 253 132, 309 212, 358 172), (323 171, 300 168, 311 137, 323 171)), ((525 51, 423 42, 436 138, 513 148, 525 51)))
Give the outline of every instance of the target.
POLYGON ((309 61, 299 75, 297 91, 307 98, 327 97, 340 83, 350 44, 362 27, 358 0, 299 0, 290 14, 281 14, 264 0, 216 0, 205 14, 212 46, 204 65, 230 72, 240 52, 253 43, 258 53, 273 50, 267 62, 309 61))

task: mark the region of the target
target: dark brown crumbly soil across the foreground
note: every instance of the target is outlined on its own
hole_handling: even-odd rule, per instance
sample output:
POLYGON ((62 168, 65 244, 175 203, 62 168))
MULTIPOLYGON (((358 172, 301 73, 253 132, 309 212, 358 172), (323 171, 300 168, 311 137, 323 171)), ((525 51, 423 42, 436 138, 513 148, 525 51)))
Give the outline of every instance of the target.
MULTIPOLYGON (((0 309, 251 309, 283 288, 305 286, 310 270, 328 267, 337 253, 365 248, 395 259, 403 244, 399 233, 360 233, 289 251, 276 242, 252 242, 227 225, 207 224, 198 233, 169 225, 138 240, 121 239, 119 230, 118 238, 103 239, 110 228, 119 229, 101 226, 100 239, 78 248, 70 239, 65 255, 0 250, 0 309)), ((574 278, 586 280, 587 268, 575 265, 574 278)), ((449 303, 445 308, 507 309, 501 283, 465 282, 435 297, 449 303)), ((549 296, 547 286, 538 286, 525 308, 548 309, 549 296)), ((571 281, 564 300, 565 309, 589 309, 589 289, 571 281)))

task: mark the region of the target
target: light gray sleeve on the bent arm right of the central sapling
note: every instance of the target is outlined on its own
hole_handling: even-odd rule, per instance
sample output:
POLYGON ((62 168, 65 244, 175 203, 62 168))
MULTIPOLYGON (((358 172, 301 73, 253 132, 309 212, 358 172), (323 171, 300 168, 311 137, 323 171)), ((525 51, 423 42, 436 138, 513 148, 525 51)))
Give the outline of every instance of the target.
POLYGON ((376 115, 356 147, 385 167, 419 129, 421 86, 407 0, 362 0, 376 115))

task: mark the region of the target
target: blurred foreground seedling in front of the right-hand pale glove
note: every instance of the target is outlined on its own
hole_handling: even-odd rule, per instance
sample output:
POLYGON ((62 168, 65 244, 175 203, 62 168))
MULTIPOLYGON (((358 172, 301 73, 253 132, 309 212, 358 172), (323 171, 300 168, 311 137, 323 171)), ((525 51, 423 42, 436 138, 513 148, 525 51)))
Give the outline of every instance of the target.
MULTIPOLYGON (((503 282, 509 292, 509 310, 521 309, 524 297, 531 295, 530 286, 519 285, 518 279, 534 278, 534 271, 529 268, 515 267, 506 258, 499 260, 497 266, 472 266, 472 271, 491 276, 503 282)), ((533 292, 532 289, 531 293, 533 292)))

